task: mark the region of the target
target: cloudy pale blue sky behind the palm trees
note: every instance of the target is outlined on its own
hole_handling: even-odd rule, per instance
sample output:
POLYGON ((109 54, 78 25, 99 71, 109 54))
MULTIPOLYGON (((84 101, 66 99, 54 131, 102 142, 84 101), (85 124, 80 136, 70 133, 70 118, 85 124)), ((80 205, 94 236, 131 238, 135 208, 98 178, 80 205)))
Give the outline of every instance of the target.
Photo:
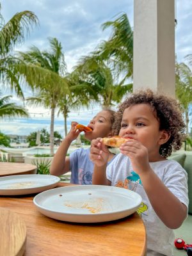
MULTIPOLYGON (((109 20, 114 20, 121 12, 127 13, 131 27, 133 24, 134 0, 0 0, 1 13, 5 22, 10 20, 17 12, 29 10, 38 17, 40 26, 33 28, 28 38, 22 45, 17 45, 15 50, 28 51, 35 45, 41 51, 49 49, 49 37, 56 37, 63 47, 68 72, 77 64, 81 56, 94 51, 102 40, 107 40, 111 35, 110 29, 102 31, 101 25, 109 20), (48 48, 47 48, 48 47, 48 48)), ((184 61, 184 56, 192 54, 192 1, 177 0, 177 27, 175 29, 175 53, 177 61, 184 61)), ((25 93, 25 92, 24 92, 25 93)), ((28 92, 26 92, 28 93, 28 92)), ((9 93, 10 94, 10 93, 9 93)), ((15 97, 13 97, 15 99, 15 97)), ((17 102, 17 99, 15 99, 17 102)), ((95 106, 89 111, 70 113, 68 121, 78 119, 79 122, 88 123, 99 111, 95 106)), ((0 123, 0 131, 6 134, 26 134, 45 128, 44 122, 40 124, 34 120, 47 118, 46 128, 49 130, 49 109, 29 108, 31 121, 4 120, 0 123), (34 113, 36 113, 34 115, 34 113), (22 122, 24 121, 24 122, 22 122)), ((56 122, 63 120, 56 117, 56 122)), ((56 131, 63 135, 63 125, 56 124, 56 131), (58 128, 58 129, 57 129, 58 128)), ((68 124, 68 127, 70 123, 68 124)))

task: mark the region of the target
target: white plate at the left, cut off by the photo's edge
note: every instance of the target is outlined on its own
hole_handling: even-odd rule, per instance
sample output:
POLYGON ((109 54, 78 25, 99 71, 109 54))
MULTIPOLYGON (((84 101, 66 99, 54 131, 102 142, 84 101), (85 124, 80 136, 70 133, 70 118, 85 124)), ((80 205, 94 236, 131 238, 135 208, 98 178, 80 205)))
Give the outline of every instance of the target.
POLYGON ((55 188, 60 178, 44 174, 23 174, 0 177, 0 195, 27 195, 55 188))

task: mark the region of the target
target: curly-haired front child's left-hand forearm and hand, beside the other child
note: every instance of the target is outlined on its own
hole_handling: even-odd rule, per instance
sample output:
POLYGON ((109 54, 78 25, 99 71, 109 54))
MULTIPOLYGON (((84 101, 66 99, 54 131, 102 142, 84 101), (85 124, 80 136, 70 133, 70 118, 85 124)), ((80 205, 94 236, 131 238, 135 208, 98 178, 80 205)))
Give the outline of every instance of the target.
POLYGON ((109 158, 108 148, 101 143, 101 138, 92 140, 90 148, 90 159, 95 164, 92 176, 93 185, 111 185, 106 177, 106 168, 109 158))

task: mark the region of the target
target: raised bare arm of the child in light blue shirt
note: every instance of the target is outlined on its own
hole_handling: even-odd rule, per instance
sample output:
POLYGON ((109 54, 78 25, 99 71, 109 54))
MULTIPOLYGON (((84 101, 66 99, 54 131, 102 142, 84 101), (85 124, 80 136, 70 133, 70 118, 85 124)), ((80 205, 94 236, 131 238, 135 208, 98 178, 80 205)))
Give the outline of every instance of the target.
POLYGON ((79 135, 79 131, 75 131, 75 127, 78 123, 72 122, 71 129, 68 132, 65 139, 62 141, 60 147, 58 148, 56 154, 54 155, 50 167, 50 173, 52 175, 62 175, 63 173, 67 173, 70 167, 69 157, 66 157, 67 150, 70 147, 70 144, 73 140, 76 140, 79 135))

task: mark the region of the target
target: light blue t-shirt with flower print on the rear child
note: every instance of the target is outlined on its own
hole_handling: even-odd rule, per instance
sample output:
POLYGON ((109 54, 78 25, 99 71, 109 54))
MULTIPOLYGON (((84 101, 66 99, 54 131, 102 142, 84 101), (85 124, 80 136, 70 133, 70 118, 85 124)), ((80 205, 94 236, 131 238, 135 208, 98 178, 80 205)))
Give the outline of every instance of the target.
MULTIPOLYGON (((70 182, 80 185, 92 184, 94 164, 90 160, 90 148, 78 148, 72 152, 70 158, 70 182)), ((108 162, 111 163, 116 155, 108 162)))

